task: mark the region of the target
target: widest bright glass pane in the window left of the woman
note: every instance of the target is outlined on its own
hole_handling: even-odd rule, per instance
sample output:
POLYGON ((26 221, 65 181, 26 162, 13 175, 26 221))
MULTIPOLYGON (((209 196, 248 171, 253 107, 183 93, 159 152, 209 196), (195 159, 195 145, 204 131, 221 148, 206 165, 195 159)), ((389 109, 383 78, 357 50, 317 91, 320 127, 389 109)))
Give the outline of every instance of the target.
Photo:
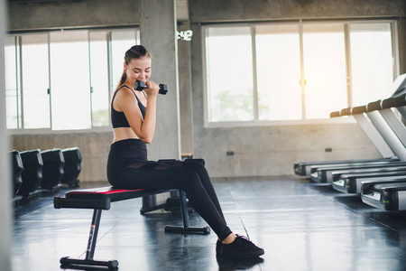
POLYGON ((88 32, 51 33, 52 129, 91 127, 88 32))

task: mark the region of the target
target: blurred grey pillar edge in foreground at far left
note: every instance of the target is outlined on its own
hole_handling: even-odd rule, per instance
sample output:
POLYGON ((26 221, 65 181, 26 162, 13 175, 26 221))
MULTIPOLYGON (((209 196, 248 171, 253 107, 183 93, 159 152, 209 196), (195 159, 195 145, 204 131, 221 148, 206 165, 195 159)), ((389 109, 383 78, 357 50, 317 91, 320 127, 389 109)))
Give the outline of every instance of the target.
POLYGON ((0 0, 0 270, 11 270, 11 181, 9 142, 5 130, 5 1, 0 0))

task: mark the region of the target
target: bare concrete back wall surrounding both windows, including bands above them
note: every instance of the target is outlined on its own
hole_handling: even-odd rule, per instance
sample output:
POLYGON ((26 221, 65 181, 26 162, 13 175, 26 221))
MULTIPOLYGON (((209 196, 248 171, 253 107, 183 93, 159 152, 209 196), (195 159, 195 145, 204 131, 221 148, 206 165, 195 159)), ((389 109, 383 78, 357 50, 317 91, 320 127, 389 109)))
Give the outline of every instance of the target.
MULTIPOLYGON (((119 26, 140 22, 140 1, 53 2, 10 4, 10 30, 119 26)), ((379 156, 356 124, 205 127, 201 23, 397 18, 401 72, 405 72, 404 10, 404 0, 189 0, 190 22, 182 22, 179 28, 192 29, 193 39, 178 42, 181 152, 192 151, 195 157, 205 158, 208 171, 214 177, 291 174, 295 161, 379 156), (333 151, 327 153, 326 148, 333 151), (235 155, 227 156, 226 151, 234 151, 235 155)), ((83 155, 80 179, 100 181, 106 177, 106 155, 111 140, 109 132, 14 135, 13 145, 19 150, 78 145, 83 155)))

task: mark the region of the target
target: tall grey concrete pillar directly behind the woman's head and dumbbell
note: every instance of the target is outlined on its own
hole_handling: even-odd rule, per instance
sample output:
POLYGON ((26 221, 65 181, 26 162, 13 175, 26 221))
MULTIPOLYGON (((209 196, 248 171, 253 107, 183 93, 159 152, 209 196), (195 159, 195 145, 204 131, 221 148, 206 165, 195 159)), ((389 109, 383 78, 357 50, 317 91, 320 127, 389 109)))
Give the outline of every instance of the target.
POLYGON ((159 95, 157 124, 148 159, 180 159, 180 109, 175 0, 141 0, 141 44, 152 53, 152 81, 168 85, 159 95))

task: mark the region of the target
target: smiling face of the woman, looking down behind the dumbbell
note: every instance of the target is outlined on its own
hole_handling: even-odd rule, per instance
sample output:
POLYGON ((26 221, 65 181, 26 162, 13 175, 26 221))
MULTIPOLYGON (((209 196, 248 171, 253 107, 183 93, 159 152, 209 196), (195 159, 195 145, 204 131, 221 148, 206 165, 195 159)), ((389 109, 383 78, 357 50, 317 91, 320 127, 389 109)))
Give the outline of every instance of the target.
POLYGON ((147 81, 151 76, 151 58, 132 59, 125 64, 127 81, 133 86, 136 80, 147 81))

